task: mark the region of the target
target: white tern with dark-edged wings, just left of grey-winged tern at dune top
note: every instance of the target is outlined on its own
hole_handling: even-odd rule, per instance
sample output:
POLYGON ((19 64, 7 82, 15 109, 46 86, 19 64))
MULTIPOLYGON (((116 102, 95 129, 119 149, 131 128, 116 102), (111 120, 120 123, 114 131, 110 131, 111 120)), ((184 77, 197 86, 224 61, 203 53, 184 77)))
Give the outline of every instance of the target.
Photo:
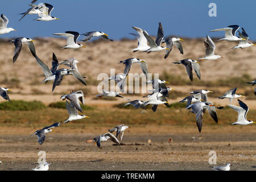
POLYGON ((67 45, 61 47, 62 49, 77 49, 80 47, 85 47, 82 46, 82 44, 77 44, 77 38, 79 38, 80 34, 79 32, 74 32, 74 31, 66 31, 65 33, 56 33, 53 35, 60 35, 60 36, 66 36, 67 37, 67 45))

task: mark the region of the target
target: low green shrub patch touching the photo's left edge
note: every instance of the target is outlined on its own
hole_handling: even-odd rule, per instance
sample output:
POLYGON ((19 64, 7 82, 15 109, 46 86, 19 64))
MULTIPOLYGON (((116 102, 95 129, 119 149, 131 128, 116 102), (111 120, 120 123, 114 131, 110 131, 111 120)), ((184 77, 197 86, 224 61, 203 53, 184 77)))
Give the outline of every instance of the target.
POLYGON ((45 109, 40 101, 5 101, 0 103, 0 110, 40 110, 45 109))

